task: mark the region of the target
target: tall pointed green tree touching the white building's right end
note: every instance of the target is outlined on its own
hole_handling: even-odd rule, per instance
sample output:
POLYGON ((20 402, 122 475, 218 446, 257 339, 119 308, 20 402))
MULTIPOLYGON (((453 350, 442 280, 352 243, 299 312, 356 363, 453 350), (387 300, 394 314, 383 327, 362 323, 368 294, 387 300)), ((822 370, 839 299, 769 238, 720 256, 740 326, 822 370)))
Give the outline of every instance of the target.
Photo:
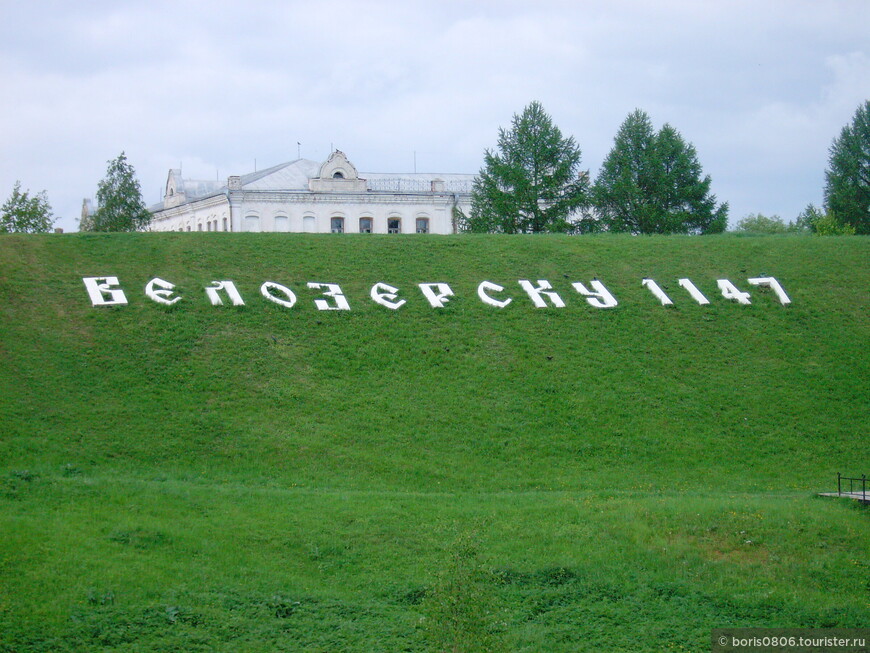
POLYGON ((484 152, 484 166, 471 191, 469 231, 538 233, 572 231, 574 213, 587 201, 589 176, 581 172, 580 149, 539 102, 512 128, 499 128, 498 152, 484 152))

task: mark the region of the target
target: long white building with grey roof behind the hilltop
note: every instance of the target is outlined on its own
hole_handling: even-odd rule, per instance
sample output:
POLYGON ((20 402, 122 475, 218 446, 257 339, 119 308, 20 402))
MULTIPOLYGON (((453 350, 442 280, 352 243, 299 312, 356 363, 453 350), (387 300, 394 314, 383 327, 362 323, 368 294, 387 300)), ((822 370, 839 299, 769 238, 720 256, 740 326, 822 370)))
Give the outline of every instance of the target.
POLYGON ((339 151, 219 181, 170 170, 152 231, 434 233, 457 231, 474 175, 357 173, 339 151))

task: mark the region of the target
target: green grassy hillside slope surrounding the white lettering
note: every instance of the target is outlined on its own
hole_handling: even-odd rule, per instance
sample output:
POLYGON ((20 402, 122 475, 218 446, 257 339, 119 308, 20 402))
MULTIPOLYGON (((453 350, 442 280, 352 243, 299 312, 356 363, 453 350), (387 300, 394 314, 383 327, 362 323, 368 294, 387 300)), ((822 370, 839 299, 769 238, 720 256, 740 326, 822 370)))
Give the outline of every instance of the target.
POLYGON ((4 236, 0 651, 681 651, 865 626, 867 512, 814 493, 870 471, 868 260, 860 237, 4 236), (129 303, 93 307, 95 276, 129 303), (155 277, 183 299, 147 298, 155 277), (617 307, 572 288, 594 278, 617 307), (245 305, 212 306, 216 280, 245 305), (443 308, 417 287, 436 282, 443 308))

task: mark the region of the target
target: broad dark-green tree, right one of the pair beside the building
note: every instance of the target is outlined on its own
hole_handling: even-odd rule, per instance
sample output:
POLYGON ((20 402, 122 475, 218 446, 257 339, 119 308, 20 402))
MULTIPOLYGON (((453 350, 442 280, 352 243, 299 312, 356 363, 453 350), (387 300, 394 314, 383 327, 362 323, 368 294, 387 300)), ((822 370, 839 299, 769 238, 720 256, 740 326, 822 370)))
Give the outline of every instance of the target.
POLYGON ((728 203, 716 205, 710 176, 690 143, 670 125, 658 133, 637 109, 619 128, 593 188, 593 205, 609 231, 634 234, 721 233, 728 203))

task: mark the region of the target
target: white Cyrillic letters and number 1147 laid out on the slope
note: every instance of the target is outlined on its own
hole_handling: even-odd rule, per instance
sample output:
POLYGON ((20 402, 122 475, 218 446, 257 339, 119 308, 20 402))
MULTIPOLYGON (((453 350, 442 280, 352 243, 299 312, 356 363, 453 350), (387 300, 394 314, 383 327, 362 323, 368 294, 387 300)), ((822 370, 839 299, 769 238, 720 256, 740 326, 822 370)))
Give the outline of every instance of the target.
MULTIPOLYGON (((127 297, 120 287, 118 277, 82 277, 82 282, 85 284, 85 289, 93 306, 123 306, 127 304, 127 297)), ((772 291, 780 304, 791 304, 791 299, 774 277, 752 277, 746 282, 751 286, 772 291)), ((528 279, 519 279, 517 283, 528 295, 535 308, 562 309, 566 306, 565 301, 547 279, 538 279, 535 283, 528 279)), ((677 283, 699 305, 710 304, 710 300, 690 279, 680 278, 677 283)), ((737 288, 728 279, 717 279, 716 284, 724 299, 743 305, 751 304, 750 294, 737 288)), ((649 290, 662 306, 674 304, 673 300, 654 279, 647 277, 641 281, 641 285, 649 290)), ((319 297, 313 298, 317 310, 351 310, 347 297, 338 284, 309 281, 306 286, 320 293, 319 297)), ((453 301, 451 298, 455 296, 450 285, 443 282, 418 283, 417 287, 420 288, 420 292, 432 308, 443 308, 448 302, 453 301)), ((585 299, 589 306, 594 308, 616 308, 619 305, 616 297, 598 279, 593 279, 588 285, 575 281, 571 283, 571 287, 585 299)), ((233 281, 212 281, 211 285, 206 286, 204 290, 212 306, 222 306, 225 299, 229 299, 233 306, 245 305, 245 301, 233 281)), ((411 301, 400 298, 400 292, 399 288, 380 281, 371 287, 369 297, 374 303, 395 311, 411 301)), ((505 308, 514 300, 513 297, 506 294, 507 292, 504 286, 492 281, 482 281, 477 286, 477 296, 480 301, 496 308, 505 308)), ((296 294, 288 286, 274 281, 263 283, 260 286, 260 294, 266 301, 284 308, 293 308, 298 303, 296 294)), ((145 296, 164 306, 173 306, 182 299, 180 295, 175 293, 175 284, 160 277, 154 277, 145 285, 145 296)), ((686 298, 687 300, 688 298, 686 298)))

